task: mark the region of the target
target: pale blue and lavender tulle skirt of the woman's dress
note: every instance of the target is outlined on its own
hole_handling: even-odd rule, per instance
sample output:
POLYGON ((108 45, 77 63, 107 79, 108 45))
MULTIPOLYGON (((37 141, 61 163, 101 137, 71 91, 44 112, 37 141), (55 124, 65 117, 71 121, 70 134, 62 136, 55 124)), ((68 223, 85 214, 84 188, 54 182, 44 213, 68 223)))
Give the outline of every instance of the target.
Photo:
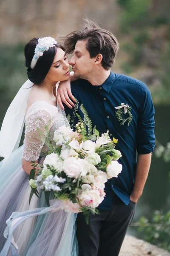
MULTIPOLYGON (((14 151, 8 160, 0 162, 0 252, 7 239, 3 233, 12 212, 46 207, 44 194, 33 195, 29 205, 31 188, 28 175, 21 166, 22 147, 14 151)), ((63 210, 28 218, 14 230, 17 253, 11 250, 0 256, 78 256, 76 238, 76 214, 63 210)))

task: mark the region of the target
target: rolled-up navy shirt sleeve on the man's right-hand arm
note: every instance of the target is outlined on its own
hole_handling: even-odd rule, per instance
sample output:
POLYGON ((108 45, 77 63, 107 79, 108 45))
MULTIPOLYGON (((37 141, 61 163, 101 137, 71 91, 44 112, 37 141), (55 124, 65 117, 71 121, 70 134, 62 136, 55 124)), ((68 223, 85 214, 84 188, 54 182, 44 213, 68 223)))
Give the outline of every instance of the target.
POLYGON ((142 83, 140 87, 141 107, 139 109, 138 130, 137 130, 137 152, 149 154, 155 148, 155 109, 153 106, 150 90, 142 83))

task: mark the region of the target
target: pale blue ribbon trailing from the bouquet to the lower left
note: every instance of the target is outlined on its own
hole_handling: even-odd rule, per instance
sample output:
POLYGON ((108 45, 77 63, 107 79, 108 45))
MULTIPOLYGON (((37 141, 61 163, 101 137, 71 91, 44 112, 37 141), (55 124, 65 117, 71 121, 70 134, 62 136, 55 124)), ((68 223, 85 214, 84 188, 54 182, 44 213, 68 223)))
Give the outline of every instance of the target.
POLYGON ((20 256, 18 253, 18 246, 14 241, 13 232, 18 227, 18 225, 26 220, 37 215, 45 214, 47 212, 57 212, 61 207, 55 207, 55 204, 50 207, 36 208, 33 210, 27 210, 24 212, 13 212, 11 216, 6 221, 7 227, 4 231, 4 237, 7 238, 7 241, 0 252, 0 256, 7 256, 8 250, 11 247, 11 256, 20 256))

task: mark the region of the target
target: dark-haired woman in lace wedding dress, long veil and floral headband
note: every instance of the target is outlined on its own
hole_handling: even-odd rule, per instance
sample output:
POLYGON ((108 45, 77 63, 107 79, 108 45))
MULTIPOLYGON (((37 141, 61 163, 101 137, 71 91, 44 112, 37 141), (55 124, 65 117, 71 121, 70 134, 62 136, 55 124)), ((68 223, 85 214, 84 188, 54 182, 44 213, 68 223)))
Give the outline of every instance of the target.
POLYGON ((23 221, 14 231, 17 253, 12 244, 8 250, 3 236, 12 212, 45 207, 41 192, 40 198, 33 195, 29 205, 31 161, 42 163, 47 131, 54 133, 61 125, 69 125, 55 93, 57 81, 70 79, 64 48, 51 37, 33 38, 25 47, 25 58, 28 81, 8 108, 0 131, 0 156, 4 157, 0 163, 0 256, 77 256, 76 215, 63 210, 23 221), (24 122, 25 139, 18 148, 24 122))

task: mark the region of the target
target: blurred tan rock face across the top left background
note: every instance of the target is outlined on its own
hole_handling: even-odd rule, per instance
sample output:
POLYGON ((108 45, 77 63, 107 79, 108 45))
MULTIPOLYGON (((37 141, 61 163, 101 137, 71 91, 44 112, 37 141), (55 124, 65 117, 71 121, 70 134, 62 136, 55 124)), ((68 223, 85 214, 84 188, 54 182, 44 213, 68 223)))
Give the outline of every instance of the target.
POLYGON ((116 33, 116 0, 1 0, 0 44, 27 42, 33 37, 81 29, 82 18, 99 20, 116 33))

